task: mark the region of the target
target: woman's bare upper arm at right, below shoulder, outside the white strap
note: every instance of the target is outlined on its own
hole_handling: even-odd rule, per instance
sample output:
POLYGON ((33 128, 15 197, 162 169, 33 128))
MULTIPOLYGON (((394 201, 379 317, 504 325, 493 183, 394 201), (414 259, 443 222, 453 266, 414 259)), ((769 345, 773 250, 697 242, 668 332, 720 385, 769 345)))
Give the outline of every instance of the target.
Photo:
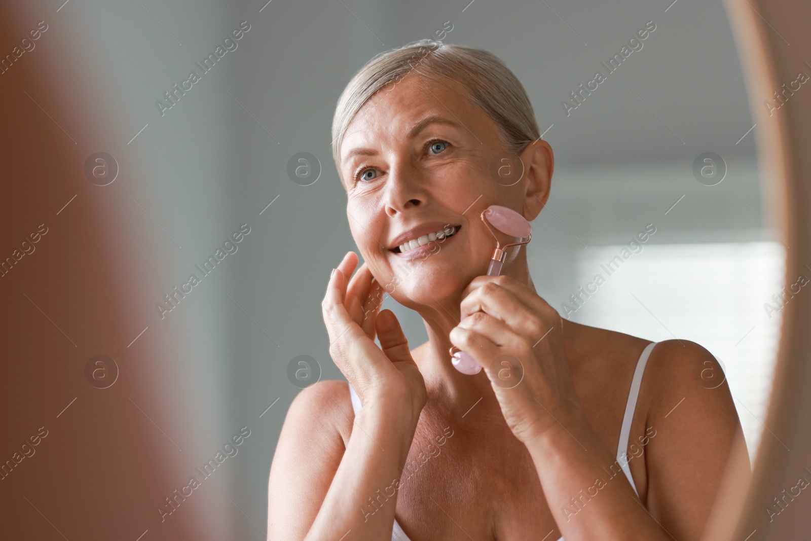
POLYGON ((736 451, 748 453, 732 393, 713 355, 689 341, 656 347, 663 348, 663 362, 652 367, 656 400, 648 424, 661 431, 646 449, 646 504, 676 539, 699 539, 723 475, 751 477, 748 460, 730 462, 732 446, 742 444, 736 451))

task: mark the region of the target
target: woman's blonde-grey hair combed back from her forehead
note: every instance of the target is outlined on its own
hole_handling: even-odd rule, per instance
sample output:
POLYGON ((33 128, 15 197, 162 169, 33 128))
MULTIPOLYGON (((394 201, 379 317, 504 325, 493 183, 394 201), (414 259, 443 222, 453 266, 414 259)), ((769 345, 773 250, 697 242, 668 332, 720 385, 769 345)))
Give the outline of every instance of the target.
POLYGON ((358 110, 390 83, 414 73, 441 83, 451 79, 468 91, 477 105, 500 128, 500 139, 510 153, 540 138, 530 98, 521 81, 495 54, 466 45, 420 40, 375 55, 344 88, 333 116, 333 160, 341 173, 341 144, 358 110))

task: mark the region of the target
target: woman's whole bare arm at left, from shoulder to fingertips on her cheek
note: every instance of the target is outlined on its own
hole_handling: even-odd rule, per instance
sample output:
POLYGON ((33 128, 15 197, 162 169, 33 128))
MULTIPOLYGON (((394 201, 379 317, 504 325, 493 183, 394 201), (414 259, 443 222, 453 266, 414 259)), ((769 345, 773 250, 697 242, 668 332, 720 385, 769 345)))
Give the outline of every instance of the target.
POLYGON ((369 269, 362 265, 348 280, 357 264, 354 252, 344 256, 321 308, 329 354, 363 407, 353 422, 340 382, 315 384, 293 401, 268 480, 271 539, 392 535, 401 470, 427 394, 397 317, 377 313, 382 289, 369 269), (341 426, 350 432, 345 447, 341 426))

